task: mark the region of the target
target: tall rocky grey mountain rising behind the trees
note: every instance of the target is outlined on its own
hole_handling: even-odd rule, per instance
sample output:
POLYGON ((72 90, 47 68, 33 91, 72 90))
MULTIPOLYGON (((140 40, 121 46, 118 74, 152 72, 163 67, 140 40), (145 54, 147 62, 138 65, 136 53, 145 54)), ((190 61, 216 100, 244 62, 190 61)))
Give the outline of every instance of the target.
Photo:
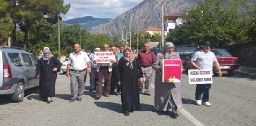
POLYGON ((164 15, 181 13, 182 10, 188 10, 196 6, 198 1, 203 0, 144 0, 136 7, 128 10, 109 23, 93 27, 92 33, 107 34, 108 36, 130 34, 131 31, 146 29, 149 27, 161 28, 162 5, 156 2, 163 2, 164 15))

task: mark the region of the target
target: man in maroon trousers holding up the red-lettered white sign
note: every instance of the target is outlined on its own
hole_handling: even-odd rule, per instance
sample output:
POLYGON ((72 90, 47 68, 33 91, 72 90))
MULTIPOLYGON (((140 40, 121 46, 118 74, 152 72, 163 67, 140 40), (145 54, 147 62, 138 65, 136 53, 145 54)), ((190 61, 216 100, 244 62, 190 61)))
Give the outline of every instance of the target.
MULTIPOLYGON (((103 45, 103 51, 106 52, 109 50, 109 45, 104 44, 103 45)), ((112 75, 112 65, 116 62, 115 57, 113 56, 112 61, 110 63, 97 63, 96 59, 93 60, 93 63, 97 63, 97 84, 96 84, 96 98, 95 99, 100 99, 102 95, 102 83, 104 79, 104 87, 105 87, 105 92, 104 95, 105 97, 109 97, 110 94, 110 79, 112 75)))

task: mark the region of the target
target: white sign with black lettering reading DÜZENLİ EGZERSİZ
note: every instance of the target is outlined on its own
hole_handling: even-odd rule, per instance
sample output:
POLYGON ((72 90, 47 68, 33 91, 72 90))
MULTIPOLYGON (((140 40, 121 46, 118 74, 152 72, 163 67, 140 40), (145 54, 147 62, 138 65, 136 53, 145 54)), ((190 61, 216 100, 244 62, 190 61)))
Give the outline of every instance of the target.
POLYGON ((190 69, 188 70, 189 84, 212 84, 211 69, 190 69))

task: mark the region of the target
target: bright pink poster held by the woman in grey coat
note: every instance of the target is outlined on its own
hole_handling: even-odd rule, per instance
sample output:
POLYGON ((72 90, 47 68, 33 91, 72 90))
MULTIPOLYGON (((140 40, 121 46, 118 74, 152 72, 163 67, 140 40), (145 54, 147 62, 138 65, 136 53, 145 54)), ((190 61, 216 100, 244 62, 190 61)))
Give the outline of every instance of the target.
POLYGON ((163 82, 181 82, 181 59, 163 59, 163 82))

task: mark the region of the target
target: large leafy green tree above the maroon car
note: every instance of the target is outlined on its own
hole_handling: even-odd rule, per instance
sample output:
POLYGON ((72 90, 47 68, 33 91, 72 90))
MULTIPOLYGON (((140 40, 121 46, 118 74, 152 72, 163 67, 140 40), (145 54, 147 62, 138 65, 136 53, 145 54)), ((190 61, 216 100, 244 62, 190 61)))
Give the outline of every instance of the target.
POLYGON ((222 0, 205 0, 183 13, 186 43, 201 45, 208 40, 217 47, 233 42, 238 29, 235 13, 224 8, 222 0))

